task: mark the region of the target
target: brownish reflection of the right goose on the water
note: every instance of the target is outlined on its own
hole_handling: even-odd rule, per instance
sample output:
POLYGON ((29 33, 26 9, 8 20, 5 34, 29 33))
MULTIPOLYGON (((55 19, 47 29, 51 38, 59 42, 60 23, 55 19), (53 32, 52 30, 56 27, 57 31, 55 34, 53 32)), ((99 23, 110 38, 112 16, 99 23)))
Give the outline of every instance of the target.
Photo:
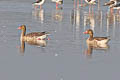
POLYGON ((92 56, 93 50, 103 50, 106 51, 109 49, 108 44, 102 44, 102 45, 96 45, 96 44, 88 44, 87 43, 87 49, 85 50, 86 56, 92 56))

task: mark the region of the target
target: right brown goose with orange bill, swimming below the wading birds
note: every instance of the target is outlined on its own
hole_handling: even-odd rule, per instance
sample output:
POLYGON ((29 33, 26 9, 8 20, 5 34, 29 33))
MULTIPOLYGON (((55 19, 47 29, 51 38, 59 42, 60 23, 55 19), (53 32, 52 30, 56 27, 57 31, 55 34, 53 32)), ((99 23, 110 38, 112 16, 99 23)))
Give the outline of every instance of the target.
POLYGON ((89 34, 89 38, 86 41, 87 44, 103 45, 103 44, 107 44, 108 41, 110 40, 109 37, 94 37, 93 36, 93 31, 91 29, 88 29, 83 33, 84 34, 89 34))

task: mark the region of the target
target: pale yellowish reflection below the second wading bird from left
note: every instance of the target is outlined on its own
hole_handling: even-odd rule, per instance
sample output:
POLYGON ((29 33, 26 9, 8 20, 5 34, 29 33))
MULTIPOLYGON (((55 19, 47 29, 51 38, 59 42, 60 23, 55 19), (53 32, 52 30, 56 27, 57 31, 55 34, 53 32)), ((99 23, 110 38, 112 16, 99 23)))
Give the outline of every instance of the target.
POLYGON ((62 21, 63 20, 62 8, 59 10, 55 10, 55 12, 52 14, 52 17, 55 21, 62 21))

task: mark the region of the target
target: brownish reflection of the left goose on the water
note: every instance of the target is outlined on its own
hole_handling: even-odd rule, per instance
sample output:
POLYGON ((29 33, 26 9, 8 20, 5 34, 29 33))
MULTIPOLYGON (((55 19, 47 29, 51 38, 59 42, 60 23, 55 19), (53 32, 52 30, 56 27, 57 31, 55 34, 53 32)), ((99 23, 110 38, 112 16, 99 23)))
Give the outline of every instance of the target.
POLYGON ((24 52, 25 52, 25 42, 29 45, 33 45, 37 47, 46 47, 47 45, 46 40, 33 40, 33 41, 21 40, 20 53, 23 53, 22 55, 24 55, 24 52))

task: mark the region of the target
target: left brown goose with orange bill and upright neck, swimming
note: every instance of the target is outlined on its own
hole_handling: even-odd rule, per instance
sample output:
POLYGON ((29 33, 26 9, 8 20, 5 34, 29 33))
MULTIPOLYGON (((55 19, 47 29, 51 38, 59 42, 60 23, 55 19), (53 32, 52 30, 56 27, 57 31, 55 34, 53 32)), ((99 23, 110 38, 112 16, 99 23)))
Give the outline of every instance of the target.
POLYGON ((32 33, 28 33, 26 34, 26 26, 25 25, 21 25, 18 27, 19 30, 22 30, 21 32, 21 41, 37 41, 37 40, 44 40, 47 38, 47 36, 49 35, 49 33, 47 32, 32 32, 32 33))

